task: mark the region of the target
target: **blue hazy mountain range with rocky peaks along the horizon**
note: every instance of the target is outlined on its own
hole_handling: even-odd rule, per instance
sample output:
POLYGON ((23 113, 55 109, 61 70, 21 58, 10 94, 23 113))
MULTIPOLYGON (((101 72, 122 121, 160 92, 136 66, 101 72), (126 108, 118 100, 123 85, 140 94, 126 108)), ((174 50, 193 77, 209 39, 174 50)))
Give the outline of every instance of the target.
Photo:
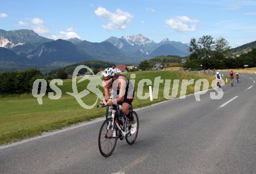
MULTIPOLYGON (((249 44, 252 45, 255 45, 254 42, 249 44)), ((247 47, 240 46, 237 50, 241 52, 247 47)), ((63 67, 87 60, 138 64, 156 56, 190 55, 188 44, 170 41, 168 38, 157 43, 142 34, 89 42, 78 38, 48 39, 33 30, 0 30, 0 48, 0 71, 27 67, 63 67)))

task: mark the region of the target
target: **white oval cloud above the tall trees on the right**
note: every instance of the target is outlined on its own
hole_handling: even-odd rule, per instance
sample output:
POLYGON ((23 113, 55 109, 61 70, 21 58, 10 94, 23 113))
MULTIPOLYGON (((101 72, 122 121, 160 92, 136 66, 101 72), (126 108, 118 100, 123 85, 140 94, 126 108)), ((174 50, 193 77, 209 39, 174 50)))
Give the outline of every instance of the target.
POLYGON ((177 16, 176 18, 166 20, 165 24, 176 31, 194 31, 198 22, 199 20, 190 19, 187 16, 177 16))

